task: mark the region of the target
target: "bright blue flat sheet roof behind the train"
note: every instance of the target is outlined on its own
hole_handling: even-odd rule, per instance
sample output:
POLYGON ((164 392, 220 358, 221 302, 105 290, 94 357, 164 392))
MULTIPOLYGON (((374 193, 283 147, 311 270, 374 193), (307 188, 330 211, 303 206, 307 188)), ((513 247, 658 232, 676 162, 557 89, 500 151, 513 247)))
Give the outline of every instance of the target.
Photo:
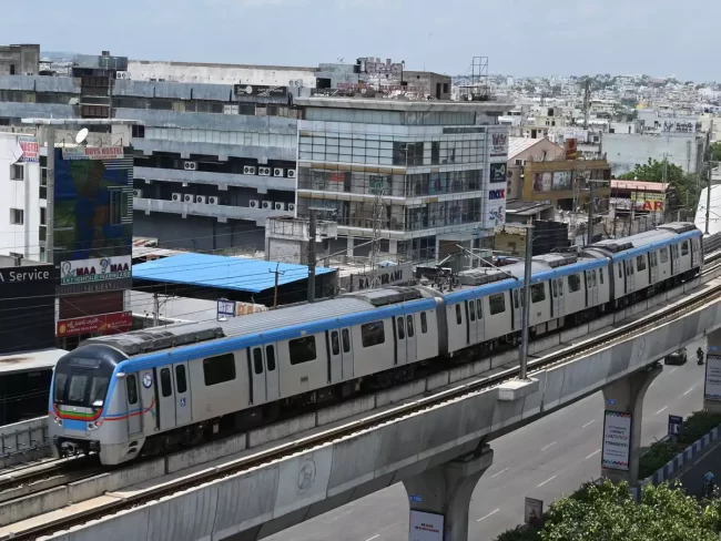
MULTIPOLYGON (((305 265, 187 253, 133 265, 133 278, 261 293, 275 286, 276 267, 280 286, 308 277, 305 265)), ((315 274, 334 270, 316 267, 315 274)))

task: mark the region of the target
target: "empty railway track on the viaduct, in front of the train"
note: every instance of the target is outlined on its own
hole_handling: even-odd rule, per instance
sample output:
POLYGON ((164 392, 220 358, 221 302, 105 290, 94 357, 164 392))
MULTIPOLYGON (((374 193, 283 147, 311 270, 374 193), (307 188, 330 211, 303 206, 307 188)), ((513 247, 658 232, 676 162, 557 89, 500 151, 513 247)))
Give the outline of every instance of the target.
MULTIPOLYGON (((708 276, 721 267, 721 252, 712 254, 708 259, 709 263, 719 262, 718 264, 704 269, 701 276, 708 276)), ((587 356, 607 347, 611 343, 623 341, 630 336, 634 336, 649 330, 664 323, 677 319, 689 312, 692 312, 705 304, 709 304, 714 297, 721 295, 721 284, 713 286, 703 292, 699 292, 691 297, 681 298, 673 306, 658 310, 642 319, 631 321, 617 329, 611 329, 601 336, 588 339, 577 345, 569 346, 563 350, 547 355, 540 359, 531 360, 528 364, 528 374, 532 375, 539 370, 547 369, 555 365, 567 363, 580 356, 587 356)), ((677 297, 678 298, 678 297, 677 297)), ((45 524, 30 527, 29 529, 17 532, 12 539, 30 541, 43 535, 67 530, 72 527, 82 525, 91 520, 98 520, 106 516, 115 514, 120 511, 132 509, 144 503, 149 503, 160 498, 169 497, 174 493, 197 487, 203 483, 223 479, 229 476, 241 473, 251 468, 264 466, 271 461, 285 458, 290 455, 309 450, 317 446, 328 443, 343 437, 352 436, 362 430, 373 429, 383 423, 417 414, 443 402, 454 399, 460 399, 479 390, 489 389, 502 382, 514 379, 518 376, 518 368, 509 368, 492 376, 480 378, 476 381, 461 385, 454 389, 440 391, 430 397, 420 398, 412 404, 398 406, 387 411, 370 415, 364 419, 348 422, 342 427, 326 430, 321 433, 297 439, 292 442, 283 443, 273 449, 260 451, 242 460, 234 461, 230 465, 221 465, 212 471, 197 472, 183 479, 175 480, 162 486, 148 489, 143 492, 130 494, 123 500, 100 504, 92 509, 81 510, 72 516, 62 517, 45 524)))

